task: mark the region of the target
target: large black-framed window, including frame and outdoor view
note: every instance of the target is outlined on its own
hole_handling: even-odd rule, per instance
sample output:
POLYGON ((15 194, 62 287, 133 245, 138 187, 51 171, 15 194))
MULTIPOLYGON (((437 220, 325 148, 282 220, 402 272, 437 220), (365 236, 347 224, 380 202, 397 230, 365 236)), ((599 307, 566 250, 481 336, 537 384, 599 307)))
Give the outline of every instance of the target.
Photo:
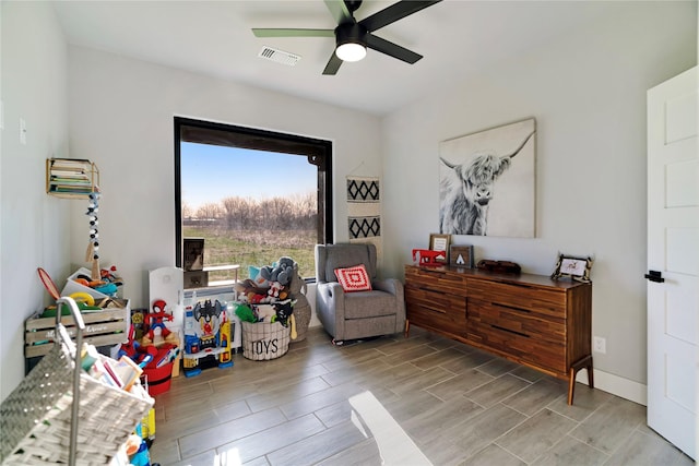
POLYGON ((185 238, 203 238, 204 267, 239 264, 244 279, 288 255, 313 277, 316 243, 332 242, 331 157, 329 141, 176 117, 177 266, 185 238))

